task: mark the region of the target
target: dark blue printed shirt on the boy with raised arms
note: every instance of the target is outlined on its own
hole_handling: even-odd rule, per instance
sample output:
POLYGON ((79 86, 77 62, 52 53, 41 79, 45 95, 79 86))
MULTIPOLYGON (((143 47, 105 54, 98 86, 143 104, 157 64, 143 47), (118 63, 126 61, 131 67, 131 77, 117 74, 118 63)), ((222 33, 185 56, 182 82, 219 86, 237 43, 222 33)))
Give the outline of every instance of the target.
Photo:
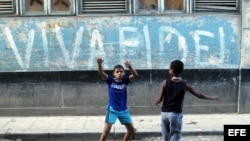
POLYGON ((116 82, 113 77, 108 76, 106 81, 109 95, 108 106, 111 106, 116 111, 127 110, 127 85, 130 83, 129 76, 125 75, 121 82, 116 82))

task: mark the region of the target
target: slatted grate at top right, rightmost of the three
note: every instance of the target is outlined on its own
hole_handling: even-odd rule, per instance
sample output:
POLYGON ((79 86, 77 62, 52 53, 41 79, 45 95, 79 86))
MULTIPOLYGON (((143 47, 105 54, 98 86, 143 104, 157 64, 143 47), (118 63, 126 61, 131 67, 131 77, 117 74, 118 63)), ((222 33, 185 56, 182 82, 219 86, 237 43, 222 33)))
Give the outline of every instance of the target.
POLYGON ((237 11, 238 0, 194 0, 195 11, 237 11))

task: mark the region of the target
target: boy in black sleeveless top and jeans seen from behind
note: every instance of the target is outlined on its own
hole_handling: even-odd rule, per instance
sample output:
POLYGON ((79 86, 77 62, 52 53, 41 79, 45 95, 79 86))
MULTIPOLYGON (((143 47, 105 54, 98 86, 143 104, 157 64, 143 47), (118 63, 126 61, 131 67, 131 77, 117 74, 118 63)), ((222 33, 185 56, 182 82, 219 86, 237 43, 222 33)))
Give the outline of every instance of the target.
POLYGON ((163 80, 160 95, 155 104, 161 104, 161 126, 163 141, 180 141, 182 131, 182 107, 186 91, 192 95, 206 100, 217 100, 218 96, 208 96, 196 92, 183 81, 181 74, 184 64, 180 60, 171 62, 169 74, 171 78, 163 80))

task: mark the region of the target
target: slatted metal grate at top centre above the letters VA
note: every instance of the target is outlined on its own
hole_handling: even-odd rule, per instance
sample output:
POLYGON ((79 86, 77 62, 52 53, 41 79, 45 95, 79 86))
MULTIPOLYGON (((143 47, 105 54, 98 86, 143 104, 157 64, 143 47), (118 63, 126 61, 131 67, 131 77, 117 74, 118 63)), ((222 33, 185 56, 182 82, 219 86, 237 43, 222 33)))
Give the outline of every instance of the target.
POLYGON ((81 0, 81 13, 126 13, 126 0, 81 0))

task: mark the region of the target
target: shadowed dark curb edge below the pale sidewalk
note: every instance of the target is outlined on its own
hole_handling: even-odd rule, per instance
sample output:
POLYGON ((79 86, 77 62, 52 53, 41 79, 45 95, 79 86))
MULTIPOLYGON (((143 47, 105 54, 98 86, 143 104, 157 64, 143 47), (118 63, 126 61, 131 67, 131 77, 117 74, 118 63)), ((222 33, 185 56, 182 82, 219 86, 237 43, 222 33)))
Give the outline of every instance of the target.
MULTIPOLYGON (((0 134, 0 141, 82 141, 82 140, 99 140, 101 133, 36 133, 36 134, 0 134), (1 140, 2 139, 2 140, 1 140)), ((118 140, 123 137, 124 133, 110 133, 108 140, 118 140)), ((222 131, 188 131, 183 132, 183 136, 195 136, 195 135, 219 135, 223 136, 222 131)), ((161 132, 136 132, 132 136, 132 140, 141 140, 147 137, 161 137, 161 132)))

